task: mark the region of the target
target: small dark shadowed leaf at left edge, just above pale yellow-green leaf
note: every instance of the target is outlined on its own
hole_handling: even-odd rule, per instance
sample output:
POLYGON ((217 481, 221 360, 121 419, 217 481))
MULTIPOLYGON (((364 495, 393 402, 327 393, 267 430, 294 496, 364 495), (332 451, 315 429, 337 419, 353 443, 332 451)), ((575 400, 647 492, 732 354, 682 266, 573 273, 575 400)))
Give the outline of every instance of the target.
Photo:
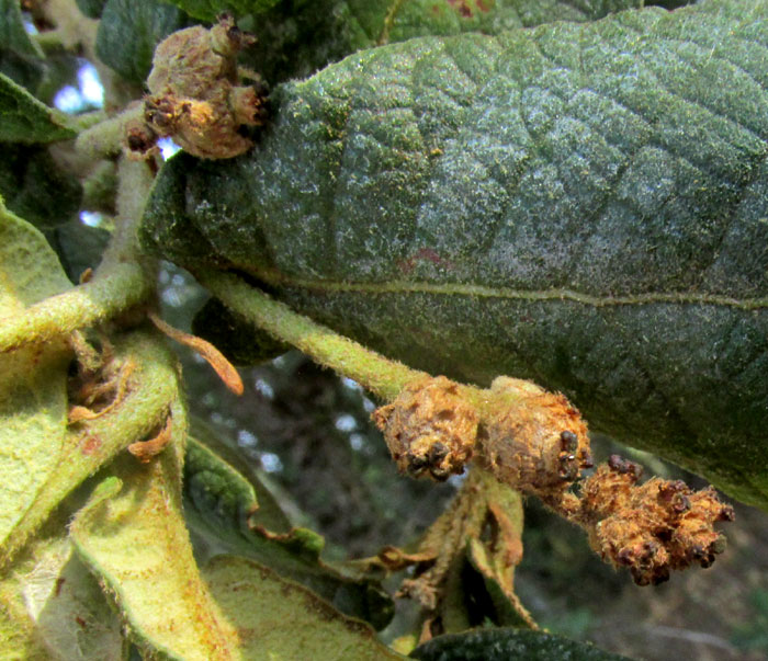
POLYGON ((82 187, 61 170, 47 149, 0 144, 0 194, 8 208, 39 228, 77 218, 82 187))

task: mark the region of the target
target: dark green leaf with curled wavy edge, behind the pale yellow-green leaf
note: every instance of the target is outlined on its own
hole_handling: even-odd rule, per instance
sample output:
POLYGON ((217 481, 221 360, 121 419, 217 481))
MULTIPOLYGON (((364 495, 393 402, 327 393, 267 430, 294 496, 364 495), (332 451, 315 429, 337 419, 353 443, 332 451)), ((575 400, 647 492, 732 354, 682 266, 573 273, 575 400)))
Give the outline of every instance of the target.
MULTIPOLYGON (((275 534, 260 527, 275 521, 275 516, 269 510, 267 517, 260 516, 256 510, 252 480, 252 476, 249 481, 210 448, 190 440, 184 463, 184 515, 196 540, 197 556, 237 554, 252 558, 306 585, 342 613, 365 619, 377 629, 386 626, 394 613, 392 600, 377 583, 348 578, 325 565, 319 559, 323 537, 306 528, 275 534)), ((256 486, 259 503, 274 509, 268 491, 256 486)), ((282 532, 284 524, 280 520, 276 523, 282 532)))

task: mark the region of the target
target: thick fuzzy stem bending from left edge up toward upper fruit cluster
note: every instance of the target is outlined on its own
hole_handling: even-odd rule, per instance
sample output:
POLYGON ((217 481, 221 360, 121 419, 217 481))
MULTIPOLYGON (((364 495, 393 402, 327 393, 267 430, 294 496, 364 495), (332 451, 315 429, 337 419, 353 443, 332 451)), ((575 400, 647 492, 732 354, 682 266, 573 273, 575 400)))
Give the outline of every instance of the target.
POLYGON ((102 322, 151 295, 154 264, 140 255, 136 233, 151 181, 145 163, 121 162, 117 228, 95 274, 22 315, 0 319, 0 353, 102 322))

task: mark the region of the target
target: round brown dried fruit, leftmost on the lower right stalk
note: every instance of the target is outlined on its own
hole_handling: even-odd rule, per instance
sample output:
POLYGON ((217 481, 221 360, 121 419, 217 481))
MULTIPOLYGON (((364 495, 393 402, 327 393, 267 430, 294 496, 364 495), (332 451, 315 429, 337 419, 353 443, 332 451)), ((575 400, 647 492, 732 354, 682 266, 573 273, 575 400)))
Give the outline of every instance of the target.
POLYGON ((408 384, 373 420, 402 471, 444 480, 472 457, 479 415, 458 384, 438 376, 408 384))

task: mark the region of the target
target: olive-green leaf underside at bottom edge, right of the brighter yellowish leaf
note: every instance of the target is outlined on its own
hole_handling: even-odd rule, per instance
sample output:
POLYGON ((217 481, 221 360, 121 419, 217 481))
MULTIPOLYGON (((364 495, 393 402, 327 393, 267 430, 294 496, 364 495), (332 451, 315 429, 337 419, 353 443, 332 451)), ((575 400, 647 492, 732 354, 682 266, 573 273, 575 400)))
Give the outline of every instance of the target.
POLYGON ((266 567, 219 556, 203 570, 224 616, 238 632, 244 659, 402 659, 373 629, 345 617, 305 588, 266 567))

